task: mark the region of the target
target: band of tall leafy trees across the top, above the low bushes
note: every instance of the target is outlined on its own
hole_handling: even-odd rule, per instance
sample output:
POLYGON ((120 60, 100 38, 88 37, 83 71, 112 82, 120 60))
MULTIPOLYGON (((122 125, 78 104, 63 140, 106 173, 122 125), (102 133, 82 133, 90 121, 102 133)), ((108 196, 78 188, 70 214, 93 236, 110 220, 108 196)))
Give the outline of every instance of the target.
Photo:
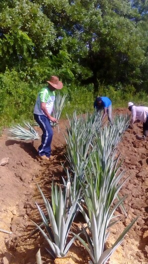
POLYGON ((1 72, 36 82, 58 74, 95 92, 146 83, 147 1, 2 0, 0 10, 1 72))

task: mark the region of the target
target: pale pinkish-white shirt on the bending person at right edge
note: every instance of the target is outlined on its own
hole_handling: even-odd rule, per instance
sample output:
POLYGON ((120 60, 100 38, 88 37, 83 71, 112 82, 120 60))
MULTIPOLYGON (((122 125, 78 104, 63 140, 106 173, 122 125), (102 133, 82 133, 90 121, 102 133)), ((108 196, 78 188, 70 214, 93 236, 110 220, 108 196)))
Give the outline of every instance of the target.
POLYGON ((132 119, 131 123, 133 124, 136 120, 146 122, 148 117, 148 107, 146 106, 132 106, 132 119))

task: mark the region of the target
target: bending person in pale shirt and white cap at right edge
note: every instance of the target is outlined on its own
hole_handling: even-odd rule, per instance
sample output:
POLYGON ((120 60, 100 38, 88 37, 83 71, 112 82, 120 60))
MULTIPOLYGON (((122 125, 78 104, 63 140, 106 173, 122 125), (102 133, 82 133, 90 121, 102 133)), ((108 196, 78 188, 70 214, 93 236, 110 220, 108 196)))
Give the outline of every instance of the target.
POLYGON ((130 128, 133 128, 133 124, 136 120, 143 122, 143 136, 136 135, 136 137, 138 139, 146 139, 148 136, 148 107, 135 106, 133 102, 129 102, 128 109, 132 112, 130 128))

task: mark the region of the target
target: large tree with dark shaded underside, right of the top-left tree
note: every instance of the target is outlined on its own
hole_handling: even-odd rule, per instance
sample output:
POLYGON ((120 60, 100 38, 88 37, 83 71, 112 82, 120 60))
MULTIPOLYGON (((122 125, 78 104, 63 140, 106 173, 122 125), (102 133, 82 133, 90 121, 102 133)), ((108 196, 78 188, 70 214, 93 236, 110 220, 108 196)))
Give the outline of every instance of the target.
MULTIPOLYGON (((42 1, 38 1, 40 4, 42 1)), ((70 54, 74 76, 83 84, 138 85, 146 42, 136 20, 139 9, 129 0, 44 0, 43 12, 56 28, 59 49, 70 54)))

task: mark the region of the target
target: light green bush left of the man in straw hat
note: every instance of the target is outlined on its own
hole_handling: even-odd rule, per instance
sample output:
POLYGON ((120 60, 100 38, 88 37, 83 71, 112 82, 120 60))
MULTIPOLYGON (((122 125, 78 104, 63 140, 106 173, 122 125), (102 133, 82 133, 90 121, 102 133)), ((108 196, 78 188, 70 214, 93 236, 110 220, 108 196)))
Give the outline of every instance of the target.
POLYGON ((15 70, 0 74, 0 125, 32 118, 37 90, 38 86, 20 80, 15 70))

